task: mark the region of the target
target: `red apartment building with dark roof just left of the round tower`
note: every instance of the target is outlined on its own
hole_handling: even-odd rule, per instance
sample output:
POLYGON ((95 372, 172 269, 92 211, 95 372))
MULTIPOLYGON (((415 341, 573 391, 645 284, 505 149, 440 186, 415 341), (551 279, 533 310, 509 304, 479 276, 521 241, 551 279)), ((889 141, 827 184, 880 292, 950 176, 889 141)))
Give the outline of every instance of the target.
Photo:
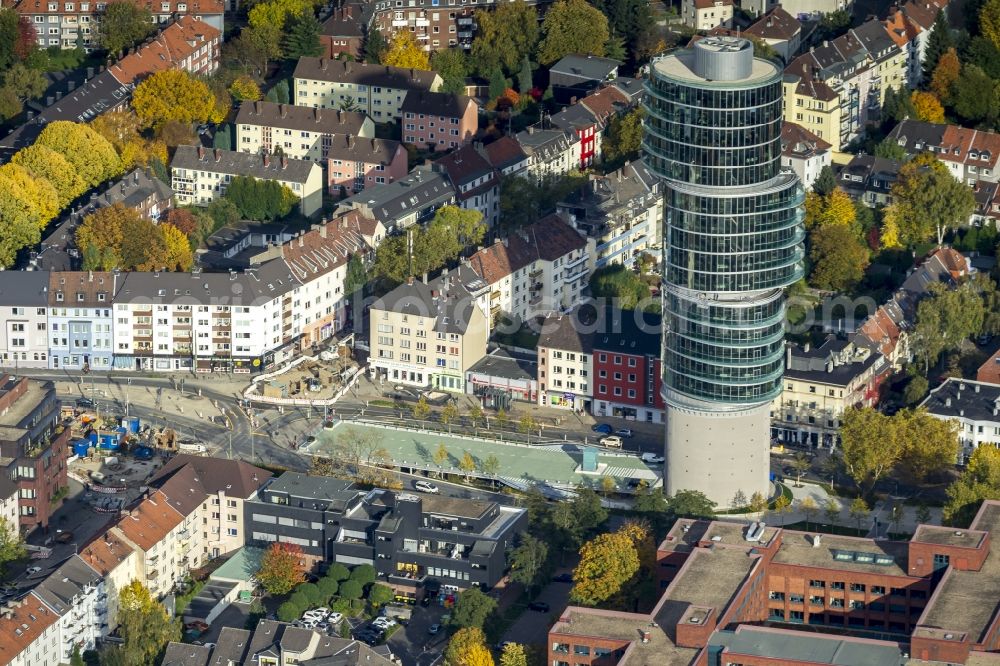
POLYGON ((660 315, 605 308, 594 333, 593 414, 663 423, 660 315))

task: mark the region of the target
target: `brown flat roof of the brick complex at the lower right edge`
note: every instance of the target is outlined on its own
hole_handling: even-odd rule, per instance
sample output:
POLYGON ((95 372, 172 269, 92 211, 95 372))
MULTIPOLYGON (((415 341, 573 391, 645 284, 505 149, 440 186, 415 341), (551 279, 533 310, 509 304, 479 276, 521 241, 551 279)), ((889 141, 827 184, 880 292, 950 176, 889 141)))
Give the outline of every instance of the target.
MULTIPOLYGON (((983 504, 973 527, 1000 529, 1000 503, 983 504)), ((990 551, 979 571, 956 571, 945 574, 920 618, 921 627, 966 633, 979 642, 1000 606, 1000 553, 990 551)))

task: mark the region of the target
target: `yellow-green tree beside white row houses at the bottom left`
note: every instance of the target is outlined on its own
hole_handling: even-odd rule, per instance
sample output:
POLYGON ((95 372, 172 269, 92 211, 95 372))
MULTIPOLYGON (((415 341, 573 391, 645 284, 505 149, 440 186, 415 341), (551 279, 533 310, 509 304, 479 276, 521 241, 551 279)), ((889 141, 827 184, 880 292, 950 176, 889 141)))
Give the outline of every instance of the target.
POLYGON ((159 663, 167 643, 181 639, 180 618, 167 615, 149 589, 134 580, 118 592, 118 634, 127 666, 159 663))

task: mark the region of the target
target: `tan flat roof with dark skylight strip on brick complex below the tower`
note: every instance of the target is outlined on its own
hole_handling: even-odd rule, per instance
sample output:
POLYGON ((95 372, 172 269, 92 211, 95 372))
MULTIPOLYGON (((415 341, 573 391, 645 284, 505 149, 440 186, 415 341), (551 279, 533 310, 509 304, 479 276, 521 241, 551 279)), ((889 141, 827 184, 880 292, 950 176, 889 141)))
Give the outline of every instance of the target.
POLYGON ((815 547, 813 536, 812 532, 786 530, 773 561, 884 576, 908 575, 908 545, 905 541, 873 541, 822 534, 819 547, 815 547))

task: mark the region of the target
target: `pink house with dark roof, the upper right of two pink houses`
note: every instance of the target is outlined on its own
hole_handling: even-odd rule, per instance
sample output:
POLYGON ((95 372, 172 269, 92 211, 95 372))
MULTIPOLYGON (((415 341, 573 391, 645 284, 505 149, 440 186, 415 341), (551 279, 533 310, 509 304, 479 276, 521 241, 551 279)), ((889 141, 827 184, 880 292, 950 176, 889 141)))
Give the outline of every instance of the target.
POLYGON ((411 90, 400 113, 403 142, 420 148, 450 150, 479 131, 479 105, 465 95, 411 90))

